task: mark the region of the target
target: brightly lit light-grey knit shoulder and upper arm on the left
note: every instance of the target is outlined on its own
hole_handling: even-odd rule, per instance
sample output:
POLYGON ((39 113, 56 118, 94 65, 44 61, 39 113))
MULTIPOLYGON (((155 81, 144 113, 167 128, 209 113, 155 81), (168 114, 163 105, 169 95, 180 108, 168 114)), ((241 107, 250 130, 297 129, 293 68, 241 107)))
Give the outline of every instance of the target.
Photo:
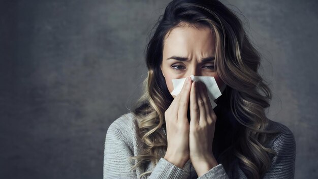
POLYGON ((104 178, 136 178, 136 171, 131 170, 131 157, 138 153, 135 128, 132 113, 123 114, 110 124, 104 145, 104 178))

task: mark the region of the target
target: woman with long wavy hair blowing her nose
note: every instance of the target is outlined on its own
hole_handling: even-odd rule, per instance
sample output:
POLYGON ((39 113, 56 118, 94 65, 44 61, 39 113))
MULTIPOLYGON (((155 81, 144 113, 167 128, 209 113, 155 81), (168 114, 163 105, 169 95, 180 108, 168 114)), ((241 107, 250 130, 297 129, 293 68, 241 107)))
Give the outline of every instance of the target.
POLYGON ((293 178, 296 144, 269 120, 270 88, 241 21, 219 1, 172 1, 147 45, 138 106, 106 134, 104 178, 293 178), (206 86, 222 95, 212 108, 206 86), (172 96, 172 79, 186 78, 172 96))

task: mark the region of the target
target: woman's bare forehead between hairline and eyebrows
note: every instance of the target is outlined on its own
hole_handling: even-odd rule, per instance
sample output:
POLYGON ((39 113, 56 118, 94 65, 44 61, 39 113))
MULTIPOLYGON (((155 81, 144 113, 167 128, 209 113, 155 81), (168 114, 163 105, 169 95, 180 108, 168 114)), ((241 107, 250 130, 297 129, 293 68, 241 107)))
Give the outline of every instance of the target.
MULTIPOLYGON (((206 26, 182 25, 169 31, 164 39, 164 51, 214 52, 215 38, 206 26)), ((184 54, 186 55, 186 54, 184 54)))

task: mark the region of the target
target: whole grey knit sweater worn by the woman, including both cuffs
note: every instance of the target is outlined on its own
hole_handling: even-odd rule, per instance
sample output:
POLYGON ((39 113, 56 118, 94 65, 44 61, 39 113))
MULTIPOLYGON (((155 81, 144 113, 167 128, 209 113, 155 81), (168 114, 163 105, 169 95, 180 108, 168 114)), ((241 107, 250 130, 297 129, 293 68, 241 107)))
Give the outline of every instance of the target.
MULTIPOLYGON (((272 158, 270 169, 264 178, 294 178, 296 142, 290 129, 280 123, 271 121, 273 130, 281 130, 270 143, 277 155, 272 158)), ((141 152, 142 141, 137 137, 138 122, 133 113, 120 116, 108 128, 104 150, 105 178, 140 178, 140 174, 152 170, 151 174, 142 178, 198 178, 190 160, 179 168, 165 160, 164 154, 155 166, 151 163, 145 168, 130 169, 135 164, 129 157, 141 152)), ((239 178, 246 178, 239 165, 235 165, 239 178)), ((222 164, 211 168, 199 178, 229 178, 222 164)))

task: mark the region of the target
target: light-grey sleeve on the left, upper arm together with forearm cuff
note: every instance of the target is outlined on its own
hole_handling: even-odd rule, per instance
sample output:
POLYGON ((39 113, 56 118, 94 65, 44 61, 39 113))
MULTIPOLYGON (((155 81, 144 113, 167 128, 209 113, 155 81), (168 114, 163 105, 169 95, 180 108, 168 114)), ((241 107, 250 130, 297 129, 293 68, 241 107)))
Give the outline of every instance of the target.
MULTIPOLYGON (((114 121, 108 128, 104 149, 103 178, 139 178, 136 169, 131 170, 134 162, 129 158, 134 156, 134 134, 127 127, 127 122, 114 121)), ((150 179, 187 178, 189 173, 164 158, 158 161, 148 176, 150 179)))

